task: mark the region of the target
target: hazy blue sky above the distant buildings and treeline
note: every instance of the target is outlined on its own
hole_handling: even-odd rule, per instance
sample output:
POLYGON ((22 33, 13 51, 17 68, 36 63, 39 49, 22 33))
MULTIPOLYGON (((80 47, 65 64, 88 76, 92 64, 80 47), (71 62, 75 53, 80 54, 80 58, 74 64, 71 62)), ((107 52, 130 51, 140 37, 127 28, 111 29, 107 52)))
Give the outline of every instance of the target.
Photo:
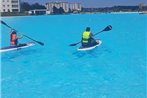
POLYGON ((46 2, 78 2, 81 3, 83 7, 111 7, 116 5, 139 5, 140 3, 145 3, 147 5, 147 0, 21 0, 29 3, 38 2, 40 4, 45 4, 46 2))

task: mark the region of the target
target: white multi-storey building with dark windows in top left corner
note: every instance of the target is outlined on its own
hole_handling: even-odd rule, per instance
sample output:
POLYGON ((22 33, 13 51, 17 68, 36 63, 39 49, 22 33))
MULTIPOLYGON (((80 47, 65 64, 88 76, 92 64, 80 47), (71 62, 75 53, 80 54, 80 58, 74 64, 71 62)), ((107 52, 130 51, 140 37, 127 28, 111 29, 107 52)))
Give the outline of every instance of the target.
POLYGON ((0 12, 20 12, 20 0, 0 0, 0 12))

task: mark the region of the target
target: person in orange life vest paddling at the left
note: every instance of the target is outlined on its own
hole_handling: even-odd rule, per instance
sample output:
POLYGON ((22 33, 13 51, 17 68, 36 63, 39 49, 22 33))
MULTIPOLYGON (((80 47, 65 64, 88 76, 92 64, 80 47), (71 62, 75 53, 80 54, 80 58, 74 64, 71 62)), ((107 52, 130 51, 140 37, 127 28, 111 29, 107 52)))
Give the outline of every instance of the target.
POLYGON ((23 37, 23 35, 21 36, 17 36, 16 31, 11 31, 10 33, 10 45, 11 46, 18 46, 18 39, 21 39, 23 37))

